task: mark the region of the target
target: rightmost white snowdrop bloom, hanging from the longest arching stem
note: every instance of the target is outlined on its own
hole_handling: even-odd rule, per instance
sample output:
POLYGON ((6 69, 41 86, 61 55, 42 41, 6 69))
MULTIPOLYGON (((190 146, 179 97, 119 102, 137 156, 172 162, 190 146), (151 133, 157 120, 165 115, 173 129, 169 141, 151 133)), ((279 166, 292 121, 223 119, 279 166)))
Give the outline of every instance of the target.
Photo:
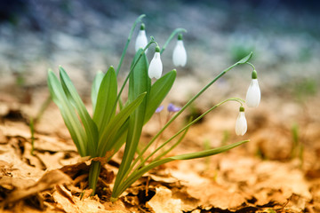
POLYGON ((252 71, 252 82, 248 88, 245 103, 249 107, 257 107, 260 104, 260 87, 257 79, 257 71, 252 71))

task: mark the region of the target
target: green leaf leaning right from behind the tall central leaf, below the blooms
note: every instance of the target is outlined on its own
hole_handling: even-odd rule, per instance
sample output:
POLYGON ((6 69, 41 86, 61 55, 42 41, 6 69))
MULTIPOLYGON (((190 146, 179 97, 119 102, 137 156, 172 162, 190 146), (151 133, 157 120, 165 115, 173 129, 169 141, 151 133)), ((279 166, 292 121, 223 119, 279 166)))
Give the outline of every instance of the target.
POLYGON ((156 83, 151 86, 144 123, 148 122, 151 116, 156 112, 156 108, 161 104, 165 96, 171 90, 176 75, 176 70, 172 70, 158 79, 156 83))

